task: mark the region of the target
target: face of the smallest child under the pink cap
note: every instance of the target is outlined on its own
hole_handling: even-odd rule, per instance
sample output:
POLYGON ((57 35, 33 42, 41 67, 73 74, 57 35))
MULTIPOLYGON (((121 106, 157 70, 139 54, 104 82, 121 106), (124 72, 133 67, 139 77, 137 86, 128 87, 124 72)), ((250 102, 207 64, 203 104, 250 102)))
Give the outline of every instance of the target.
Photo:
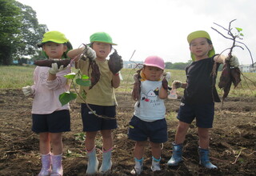
POLYGON ((158 81, 163 73, 163 70, 156 66, 144 66, 142 71, 143 74, 145 74, 146 79, 149 81, 158 81))

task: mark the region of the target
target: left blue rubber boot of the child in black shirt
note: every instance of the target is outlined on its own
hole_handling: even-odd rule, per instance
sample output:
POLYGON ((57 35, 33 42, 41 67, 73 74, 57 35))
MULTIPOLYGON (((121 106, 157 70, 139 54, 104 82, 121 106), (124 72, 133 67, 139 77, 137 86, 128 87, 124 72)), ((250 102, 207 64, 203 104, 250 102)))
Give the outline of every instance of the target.
POLYGON ((167 162, 168 166, 178 166, 179 162, 182 162, 182 144, 175 144, 173 142, 173 155, 167 162))

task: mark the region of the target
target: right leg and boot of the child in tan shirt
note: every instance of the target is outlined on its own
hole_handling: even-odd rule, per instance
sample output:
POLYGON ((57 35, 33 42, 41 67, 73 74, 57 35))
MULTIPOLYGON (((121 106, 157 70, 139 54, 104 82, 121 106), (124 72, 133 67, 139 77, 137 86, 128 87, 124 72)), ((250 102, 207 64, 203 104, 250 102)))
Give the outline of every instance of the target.
POLYGON ((111 153, 112 153, 112 132, 111 130, 102 130, 102 138, 103 138, 103 147, 102 147, 102 166, 99 168, 99 173, 105 174, 111 170, 112 161, 111 161, 111 153))

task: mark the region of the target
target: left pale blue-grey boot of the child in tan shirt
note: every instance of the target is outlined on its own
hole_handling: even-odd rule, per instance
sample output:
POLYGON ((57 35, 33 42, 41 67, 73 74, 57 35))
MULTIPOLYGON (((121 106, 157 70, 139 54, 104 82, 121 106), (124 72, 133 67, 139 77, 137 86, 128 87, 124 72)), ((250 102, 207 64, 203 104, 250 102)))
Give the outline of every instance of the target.
POLYGON ((88 162, 87 162, 86 175, 97 174, 98 173, 98 159, 96 156, 95 147, 93 148, 93 150, 90 150, 90 151, 87 150, 87 157, 88 157, 88 162))

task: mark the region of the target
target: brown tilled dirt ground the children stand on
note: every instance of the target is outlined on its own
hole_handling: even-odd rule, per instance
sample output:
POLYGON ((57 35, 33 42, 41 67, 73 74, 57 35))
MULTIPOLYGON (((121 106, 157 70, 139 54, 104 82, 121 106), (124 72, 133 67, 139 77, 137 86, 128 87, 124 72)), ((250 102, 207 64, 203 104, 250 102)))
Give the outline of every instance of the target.
MULTIPOLYGON (((118 129, 114 130, 113 167, 110 175, 130 175, 134 166, 134 142, 127 136, 127 126, 134 110, 130 95, 117 94, 118 129)), ((175 114, 178 100, 166 100, 167 116, 175 114)), ((0 175, 36 175, 41 168, 38 135, 31 132, 31 98, 22 90, 0 90, 0 175)), ((150 148, 146 149, 142 175, 255 175, 256 174, 256 98, 227 98, 221 109, 216 104, 214 128, 210 138, 210 158, 218 170, 198 165, 198 135, 194 124, 184 142, 184 162, 178 167, 166 166, 171 156, 171 142, 178 121, 168 119, 169 141, 162 149, 162 170, 150 170, 150 148)), ((64 175, 85 175, 86 153, 82 142, 82 120, 78 104, 71 103, 72 131, 63 135, 64 175)), ((97 153, 102 160, 101 139, 97 153)))

